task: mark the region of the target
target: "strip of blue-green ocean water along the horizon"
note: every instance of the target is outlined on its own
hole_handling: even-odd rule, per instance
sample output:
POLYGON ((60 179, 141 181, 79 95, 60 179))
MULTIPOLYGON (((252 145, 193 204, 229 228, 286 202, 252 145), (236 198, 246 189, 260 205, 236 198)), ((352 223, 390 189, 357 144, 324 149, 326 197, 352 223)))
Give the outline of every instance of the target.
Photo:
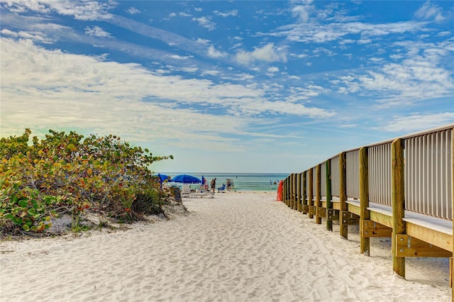
MULTIPOLYGON (((201 172, 184 172, 184 173, 165 173, 170 177, 175 177, 178 174, 189 174, 201 179, 203 176, 208 185, 211 179, 216 178, 216 188, 227 185, 227 179, 233 181, 233 191, 277 191, 279 181, 285 179, 289 174, 278 173, 201 173, 201 172)), ((195 185, 193 185, 195 187, 195 185)), ((227 187, 226 187, 227 189, 227 187)))

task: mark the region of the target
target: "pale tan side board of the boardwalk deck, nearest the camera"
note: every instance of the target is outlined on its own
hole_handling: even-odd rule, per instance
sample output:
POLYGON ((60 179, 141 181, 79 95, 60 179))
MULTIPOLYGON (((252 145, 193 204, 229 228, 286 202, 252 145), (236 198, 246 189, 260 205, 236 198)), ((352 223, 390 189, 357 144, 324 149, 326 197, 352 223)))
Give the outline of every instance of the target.
POLYGON ((453 252, 453 236, 446 233, 424 228, 421 225, 414 223, 405 223, 405 233, 411 237, 416 237, 419 240, 441 247, 443 250, 453 252))

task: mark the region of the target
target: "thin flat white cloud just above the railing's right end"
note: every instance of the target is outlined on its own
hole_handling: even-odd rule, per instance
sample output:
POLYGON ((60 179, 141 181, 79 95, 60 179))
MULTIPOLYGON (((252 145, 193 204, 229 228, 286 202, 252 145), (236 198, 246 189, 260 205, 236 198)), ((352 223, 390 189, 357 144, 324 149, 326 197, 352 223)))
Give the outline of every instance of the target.
POLYGON ((416 132, 454 122, 454 112, 435 114, 413 114, 411 116, 394 117, 393 120, 382 126, 382 130, 389 132, 416 132))

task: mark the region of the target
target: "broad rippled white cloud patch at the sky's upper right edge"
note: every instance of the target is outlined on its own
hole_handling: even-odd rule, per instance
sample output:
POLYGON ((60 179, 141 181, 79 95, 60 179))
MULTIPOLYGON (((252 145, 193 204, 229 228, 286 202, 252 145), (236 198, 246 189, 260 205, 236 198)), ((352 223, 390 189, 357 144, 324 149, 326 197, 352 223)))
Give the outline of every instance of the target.
POLYGON ((408 106, 453 96, 454 80, 444 63, 454 52, 453 41, 394 44, 406 48, 406 52, 391 55, 397 62, 389 62, 365 74, 341 77, 338 91, 372 94, 381 106, 408 106))

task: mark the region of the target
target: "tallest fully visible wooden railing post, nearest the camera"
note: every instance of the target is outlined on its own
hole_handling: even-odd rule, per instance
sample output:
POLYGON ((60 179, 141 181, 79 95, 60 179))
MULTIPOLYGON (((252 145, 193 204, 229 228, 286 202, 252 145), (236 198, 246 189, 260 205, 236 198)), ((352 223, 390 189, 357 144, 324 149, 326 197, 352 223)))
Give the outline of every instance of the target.
POLYGON ((404 140, 397 138, 391 144, 392 158, 392 269, 405 278, 405 257, 397 257, 397 235, 405 233, 404 222, 404 140))

